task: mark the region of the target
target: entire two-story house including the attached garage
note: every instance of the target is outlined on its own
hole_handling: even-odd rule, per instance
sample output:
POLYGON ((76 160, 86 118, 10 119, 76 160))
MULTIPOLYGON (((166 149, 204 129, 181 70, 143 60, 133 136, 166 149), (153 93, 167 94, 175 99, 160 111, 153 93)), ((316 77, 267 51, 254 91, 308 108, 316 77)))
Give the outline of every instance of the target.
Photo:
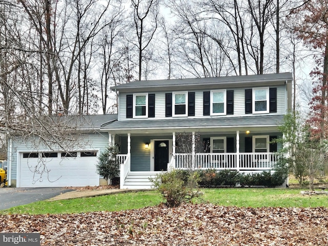
POLYGON ((83 116, 83 147, 35 149, 10 140, 9 182, 17 187, 97 186, 101 177, 95 165, 108 144, 120 146, 122 189, 150 188, 150 176, 173 168, 270 170, 280 148, 270 141, 282 136, 278 125, 291 109, 292 79, 292 73, 280 73, 111 87, 118 92, 118 114, 83 116), (181 134, 190 136, 188 150, 179 149, 181 134))

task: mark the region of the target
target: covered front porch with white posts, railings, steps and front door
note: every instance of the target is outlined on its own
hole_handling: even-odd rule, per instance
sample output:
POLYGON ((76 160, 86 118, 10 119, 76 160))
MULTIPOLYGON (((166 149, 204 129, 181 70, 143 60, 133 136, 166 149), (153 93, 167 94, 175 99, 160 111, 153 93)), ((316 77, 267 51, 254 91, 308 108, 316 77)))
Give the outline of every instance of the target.
MULTIPOLYGON (((209 130, 208 130, 209 131, 209 130)), ((172 169, 231 169, 243 173, 260 173, 272 170, 278 160, 277 144, 272 139, 280 135, 275 129, 250 131, 190 132, 186 148, 180 148, 180 134, 126 133, 118 138, 109 134, 110 144, 119 142, 117 155, 120 166, 121 189, 150 189, 146 175, 172 169), (136 175, 142 176, 137 178, 136 175), (138 187, 138 188, 136 188, 138 187)), ((183 147, 183 146, 182 146, 183 147)))

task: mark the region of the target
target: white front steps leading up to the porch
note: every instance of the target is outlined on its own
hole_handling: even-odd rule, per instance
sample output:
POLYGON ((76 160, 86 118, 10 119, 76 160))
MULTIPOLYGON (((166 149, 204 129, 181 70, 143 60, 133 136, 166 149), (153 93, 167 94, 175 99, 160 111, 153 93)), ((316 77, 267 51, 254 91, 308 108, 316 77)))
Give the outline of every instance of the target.
POLYGON ((150 177, 155 177, 161 172, 129 172, 125 179, 123 189, 152 189, 150 177))

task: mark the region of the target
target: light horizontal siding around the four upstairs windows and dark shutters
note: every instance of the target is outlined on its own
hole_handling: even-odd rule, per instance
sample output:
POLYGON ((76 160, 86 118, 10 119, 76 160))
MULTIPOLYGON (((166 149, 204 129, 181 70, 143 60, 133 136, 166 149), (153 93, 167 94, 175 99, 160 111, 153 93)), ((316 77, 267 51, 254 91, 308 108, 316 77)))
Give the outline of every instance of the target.
MULTIPOLYGON (((234 114, 220 115, 220 116, 203 116, 203 91, 210 90, 189 90, 195 92, 195 116, 188 117, 166 117, 165 116, 165 94, 172 93, 172 91, 155 92, 155 117, 154 118, 140 118, 141 120, 153 119, 170 119, 170 118, 204 118, 204 117, 235 117, 235 116, 251 116, 253 114, 245 114, 245 89, 252 89, 255 87, 244 88, 227 88, 227 90, 234 90, 234 114)), ((266 113, 256 115, 269 115, 269 114, 285 114, 285 87, 275 86, 277 88, 277 113, 266 113)), ((129 93, 130 94, 130 93, 129 93)), ((127 93, 119 94, 119 117, 120 120, 135 120, 135 118, 126 117, 126 95, 127 93)), ((187 106, 188 107, 188 106, 187 106)))

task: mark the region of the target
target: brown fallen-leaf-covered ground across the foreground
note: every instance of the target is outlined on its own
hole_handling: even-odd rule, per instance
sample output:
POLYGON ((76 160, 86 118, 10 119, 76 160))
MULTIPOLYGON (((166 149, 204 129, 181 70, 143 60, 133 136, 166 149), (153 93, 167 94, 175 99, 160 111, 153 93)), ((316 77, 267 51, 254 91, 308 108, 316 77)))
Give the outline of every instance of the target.
POLYGON ((328 245, 327 208, 160 205, 120 212, 0 215, 1 233, 39 232, 41 245, 328 245))

